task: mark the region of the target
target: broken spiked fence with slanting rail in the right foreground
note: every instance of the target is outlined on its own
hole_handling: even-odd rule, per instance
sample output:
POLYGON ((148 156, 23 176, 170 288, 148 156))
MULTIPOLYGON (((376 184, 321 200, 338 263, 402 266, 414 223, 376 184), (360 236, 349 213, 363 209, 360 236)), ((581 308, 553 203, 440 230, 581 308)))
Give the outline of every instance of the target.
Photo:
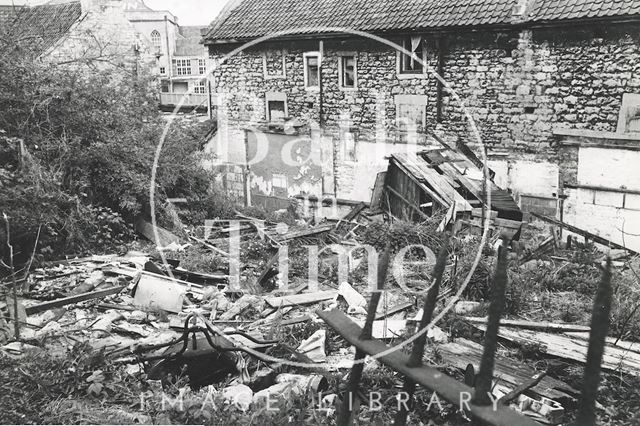
MULTIPOLYGON (((480 370, 475 380, 475 386, 469 386, 456 379, 441 373, 433 367, 422 365, 422 357, 426 345, 426 332, 415 339, 410 355, 399 350, 388 351, 389 347, 372 338, 372 327, 376 310, 380 301, 384 282, 389 266, 389 248, 385 250, 381 262, 378 265, 378 291, 373 292, 367 311, 367 319, 362 328, 354 323, 342 311, 320 311, 318 315, 345 340, 356 347, 355 362, 349 375, 347 393, 338 413, 338 426, 351 424, 355 413, 354 396, 362 379, 364 358, 366 355, 376 356, 383 352, 389 352, 379 356, 379 362, 387 365, 405 377, 403 391, 408 395, 408 403, 402 407, 395 418, 396 425, 405 425, 409 410, 413 408, 413 393, 416 385, 421 385, 438 396, 446 399, 454 405, 460 404, 461 395, 467 392, 473 395, 465 406, 476 424, 484 423, 500 426, 534 426, 539 425, 533 419, 518 413, 508 407, 510 400, 526 391, 528 386, 522 385, 514 389, 510 394, 501 398, 494 409, 489 393, 493 382, 493 370, 495 352, 498 341, 498 328, 500 317, 505 305, 505 289, 507 285, 507 248, 506 240, 499 249, 498 263, 494 275, 492 300, 489 306, 489 315, 485 333, 483 355, 480 360, 480 370)), ((447 244, 444 245, 433 270, 433 284, 424 297, 423 316, 417 331, 424 330, 432 320, 436 307, 440 284, 444 274, 447 259, 447 244)), ((598 383, 600 382, 600 369, 604 354, 605 339, 609 327, 609 312, 611 309, 611 261, 607 261, 600 286, 595 296, 593 315, 591 318, 591 333, 589 336, 589 348, 584 371, 583 391, 578 406, 576 424, 580 426, 595 425, 595 404, 598 383)), ((535 384, 535 383, 534 383, 535 384)), ((533 386, 533 385, 530 385, 533 386)), ((529 386, 529 387, 530 387, 529 386)))

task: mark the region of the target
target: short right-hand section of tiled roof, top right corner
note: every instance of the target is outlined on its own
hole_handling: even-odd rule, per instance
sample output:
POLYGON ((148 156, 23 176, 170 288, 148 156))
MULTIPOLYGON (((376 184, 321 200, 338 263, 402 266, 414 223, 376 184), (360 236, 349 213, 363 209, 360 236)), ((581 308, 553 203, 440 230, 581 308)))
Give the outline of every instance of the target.
POLYGON ((640 15, 640 0, 532 1, 530 22, 640 15))

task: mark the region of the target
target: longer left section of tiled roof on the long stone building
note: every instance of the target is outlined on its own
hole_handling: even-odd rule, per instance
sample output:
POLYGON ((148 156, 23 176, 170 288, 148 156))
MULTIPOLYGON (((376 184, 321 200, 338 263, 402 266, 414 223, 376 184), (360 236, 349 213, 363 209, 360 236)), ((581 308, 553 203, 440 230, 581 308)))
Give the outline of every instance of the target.
POLYGON ((507 24, 518 0, 235 0, 210 26, 206 41, 249 39, 294 28, 360 31, 507 24))

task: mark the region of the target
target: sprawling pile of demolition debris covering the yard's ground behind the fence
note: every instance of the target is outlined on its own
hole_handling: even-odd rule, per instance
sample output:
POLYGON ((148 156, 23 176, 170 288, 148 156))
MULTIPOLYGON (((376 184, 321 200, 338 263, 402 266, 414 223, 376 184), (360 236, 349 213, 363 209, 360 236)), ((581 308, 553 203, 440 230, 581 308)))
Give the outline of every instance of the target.
MULTIPOLYGON (((419 303, 436 263, 434 253, 442 245, 436 229, 441 218, 420 225, 388 225, 384 216, 364 204, 343 220, 315 226, 276 224, 239 214, 234 220, 210 221, 189 230, 188 243, 164 231, 163 244, 149 253, 38 265, 20 282, 17 311, 10 293, 0 303, 2 356, 19 358, 33 350, 64 356, 69 346, 83 342, 110 362, 128 365, 127 372, 158 381, 159 388, 185 379, 194 390, 213 386, 220 398, 242 411, 270 398, 320 395, 318 409, 328 404, 332 413, 356 351, 340 336, 344 330, 335 329, 339 321, 327 318, 340 312, 350 324, 364 326, 375 293, 370 284, 377 278, 377 271, 372 274, 368 268, 371 253, 364 245, 397 246, 391 251, 398 255, 400 247, 416 238, 424 244, 421 250, 402 253, 400 266, 390 268, 373 315, 372 338, 391 346, 416 332, 423 316, 419 303), (394 242, 398 235, 404 240, 394 242), (236 258, 238 251, 242 254, 236 258)), ((138 226, 153 238, 152 225, 138 226)), ((484 248, 488 263, 497 238, 484 248)), ((474 386, 482 358, 479 341, 487 324, 482 316, 487 301, 478 289, 486 283, 474 275, 475 290, 461 289, 472 263, 469 250, 461 248, 477 245, 479 238, 458 235, 451 240, 435 312, 448 305, 452 309, 441 328, 428 331, 425 362, 454 376, 464 374, 464 382, 474 386)), ((551 280, 577 268, 571 257, 579 250, 575 244, 567 249, 553 237, 535 244, 520 250, 521 244, 518 252, 510 253, 510 281, 515 287, 507 297, 527 300, 518 305, 524 310, 518 313, 509 311, 514 309, 509 305, 512 299, 507 303, 510 315, 502 319, 498 332, 505 346, 496 354, 492 392, 535 420, 560 424, 579 391, 554 374, 553 367, 559 360, 585 362, 590 326, 582 319, 550 321, 544 312, 548 301, 518 293, 524 291, 522 280, 531 280, 540 264, 553 269, 545 271, 551 280), (531 262, 536 266, 528 267, 531 262), (558 262, 561 266, 549 266, 558 262), (540 308, 535 307, 538 302, 540 308), (526 353, 546 361, 522 362, 526 353)), ((618 331, 624 335, 624 329, 618 331)), ((640 343, 620 336, 607 339, 602 368, 640 376, 640 343)), ((365 364, 367 371, 382 368, 371 360, 365 364)))

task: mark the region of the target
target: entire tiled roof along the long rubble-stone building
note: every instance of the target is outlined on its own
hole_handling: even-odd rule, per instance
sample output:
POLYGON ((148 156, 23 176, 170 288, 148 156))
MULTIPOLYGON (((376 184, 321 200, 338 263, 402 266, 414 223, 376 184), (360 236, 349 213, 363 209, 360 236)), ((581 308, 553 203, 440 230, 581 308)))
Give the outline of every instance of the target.
POLYGON ((205 42, 294 28, 307 28, 297 34, 323 32, 318 27, 383 32, 625 15, 640 15, 640 0, 231 0, 205 42), (514 16, 523 5, 526 14, 514 16))

